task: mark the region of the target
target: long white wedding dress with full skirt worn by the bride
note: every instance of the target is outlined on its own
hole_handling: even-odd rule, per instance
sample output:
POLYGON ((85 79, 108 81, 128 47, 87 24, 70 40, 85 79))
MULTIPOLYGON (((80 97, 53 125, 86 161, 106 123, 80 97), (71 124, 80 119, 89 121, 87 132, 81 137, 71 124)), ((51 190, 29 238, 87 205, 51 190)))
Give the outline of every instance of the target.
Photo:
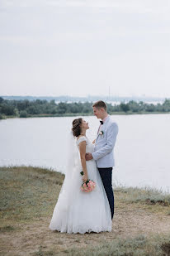
MULTIPOLYGON (((83 141, 87 144, 86 152, 93 152, 94 145, 85 136, 77 140, 77 146, 83 141)), ((110 205, 96 162, 92 159, 86 163, 88 178, 96 182, 95 189, 88 193, 80 190, 83 170, 79 159, 73 170, 69 170, 68 178, 65 176, 50 229, 69 234, 111 231, 110 205)))

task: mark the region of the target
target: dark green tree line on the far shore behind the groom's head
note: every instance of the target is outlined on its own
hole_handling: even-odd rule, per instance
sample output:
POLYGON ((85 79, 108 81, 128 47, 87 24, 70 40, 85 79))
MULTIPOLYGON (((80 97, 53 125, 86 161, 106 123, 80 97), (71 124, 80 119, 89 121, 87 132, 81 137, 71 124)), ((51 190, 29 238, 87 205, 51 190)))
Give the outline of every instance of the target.
MULTIPOLYGON (((144 113, 168 113, 170 112, 170 99, 165 99, 163 104, 147 104, 130 100, 128 103, 121 102, 118 105, 107 104, 109 114, 144 114, 144 113)), ((56 104, 54 100, 36 99, 34 101, 9 100, 0 97, 0 118, 31 116, 64 116, 64 115, 90 115, 92 114, 92 102, 56 104)))

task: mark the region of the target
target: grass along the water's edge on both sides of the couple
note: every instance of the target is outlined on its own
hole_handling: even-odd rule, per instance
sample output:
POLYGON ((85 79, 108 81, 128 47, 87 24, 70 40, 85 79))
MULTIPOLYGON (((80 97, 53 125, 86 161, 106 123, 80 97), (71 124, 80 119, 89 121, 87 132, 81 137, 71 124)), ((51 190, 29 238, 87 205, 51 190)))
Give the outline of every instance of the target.
MULTIPOLYGON (((50 214, 63 181, 63 174, 45 168, 0 167, 1 217, 25 221, 50 214)), ((170 214, 169 194, 136 187, 116 187, 114 191, 118 206, 119 203, 168 206, 170 214)))

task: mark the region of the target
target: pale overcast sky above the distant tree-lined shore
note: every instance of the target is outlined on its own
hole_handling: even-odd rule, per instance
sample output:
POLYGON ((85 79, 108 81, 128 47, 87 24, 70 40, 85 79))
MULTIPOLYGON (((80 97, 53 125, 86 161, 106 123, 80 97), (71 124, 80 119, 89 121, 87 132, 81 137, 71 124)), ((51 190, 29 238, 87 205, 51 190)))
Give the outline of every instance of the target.
POLYGON ((0 0, 0 95, 170 97, 169 0, 0 0))

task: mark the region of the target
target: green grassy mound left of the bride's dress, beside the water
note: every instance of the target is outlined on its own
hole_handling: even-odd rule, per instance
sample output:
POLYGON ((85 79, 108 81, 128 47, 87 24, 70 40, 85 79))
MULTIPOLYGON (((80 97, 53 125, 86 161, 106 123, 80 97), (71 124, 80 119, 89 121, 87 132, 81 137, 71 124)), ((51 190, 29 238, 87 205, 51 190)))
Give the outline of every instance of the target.
POLYGON ((64 175, 34 167, 0 167, 0 216, 26 221, 51 213, 64 175))

